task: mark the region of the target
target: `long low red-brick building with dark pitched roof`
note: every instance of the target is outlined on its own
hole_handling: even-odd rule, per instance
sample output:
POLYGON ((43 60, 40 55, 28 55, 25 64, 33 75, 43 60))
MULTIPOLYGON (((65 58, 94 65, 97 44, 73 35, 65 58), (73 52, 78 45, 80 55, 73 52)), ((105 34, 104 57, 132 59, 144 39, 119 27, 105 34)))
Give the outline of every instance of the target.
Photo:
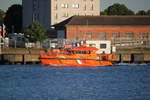
POLYGON ((150 39, 150 16, 73 16, 54 26, 67 40, 150 39))

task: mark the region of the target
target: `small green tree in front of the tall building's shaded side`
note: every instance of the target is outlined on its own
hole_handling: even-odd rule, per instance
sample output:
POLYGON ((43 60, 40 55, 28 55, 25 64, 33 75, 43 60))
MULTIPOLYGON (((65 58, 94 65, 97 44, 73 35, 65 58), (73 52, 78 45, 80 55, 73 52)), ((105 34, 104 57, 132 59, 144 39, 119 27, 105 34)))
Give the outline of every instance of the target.
POLYGON ((45 29, 39 22, 32 23, 24 30, 24 34, 30 42, 42 42, 46 39, 45 32, 45 29))

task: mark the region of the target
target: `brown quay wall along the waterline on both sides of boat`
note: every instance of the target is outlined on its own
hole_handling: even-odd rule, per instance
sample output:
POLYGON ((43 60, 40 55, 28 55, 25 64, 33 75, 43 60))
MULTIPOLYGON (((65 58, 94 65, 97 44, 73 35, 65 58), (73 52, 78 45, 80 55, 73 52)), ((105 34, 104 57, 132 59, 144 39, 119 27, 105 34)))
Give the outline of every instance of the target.
MULTIPOLYGON (((0 64, 40 64, 40 51, 44 49, 5 48, 0 54, 0 64)), ((112 55, 114 63, 150 63, 150 50, 120 50, 112 55)))

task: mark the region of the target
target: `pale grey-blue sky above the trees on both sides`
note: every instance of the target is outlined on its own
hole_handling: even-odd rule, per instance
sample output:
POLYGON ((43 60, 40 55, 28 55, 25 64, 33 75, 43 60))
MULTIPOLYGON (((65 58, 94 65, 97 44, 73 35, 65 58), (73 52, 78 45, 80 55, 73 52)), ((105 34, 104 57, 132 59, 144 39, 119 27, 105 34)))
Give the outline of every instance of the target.
MULTIPOLYGON (((0 9, 6 11, 11 5, 21 3, 22 0, 0 0, 0 9)), ((150 10, 150 0, 100 0, 101 11, 114 3, 125 4, 135 12, 139 10, 150 10)))

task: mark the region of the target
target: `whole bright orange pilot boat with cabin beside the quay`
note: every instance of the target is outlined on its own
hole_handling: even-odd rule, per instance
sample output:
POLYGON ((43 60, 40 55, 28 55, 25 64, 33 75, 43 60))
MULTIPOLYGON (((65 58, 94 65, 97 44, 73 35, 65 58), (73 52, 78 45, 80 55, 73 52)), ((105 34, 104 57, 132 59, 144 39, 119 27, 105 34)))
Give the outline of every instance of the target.
POLYGON ((41 52, 40 60, 43 65, 57 67, 96 67, 112 65, 111 55, 96 54, 98 49, 85 45, 64 48, 62 50, 51 49, 50 52, 41 52))

